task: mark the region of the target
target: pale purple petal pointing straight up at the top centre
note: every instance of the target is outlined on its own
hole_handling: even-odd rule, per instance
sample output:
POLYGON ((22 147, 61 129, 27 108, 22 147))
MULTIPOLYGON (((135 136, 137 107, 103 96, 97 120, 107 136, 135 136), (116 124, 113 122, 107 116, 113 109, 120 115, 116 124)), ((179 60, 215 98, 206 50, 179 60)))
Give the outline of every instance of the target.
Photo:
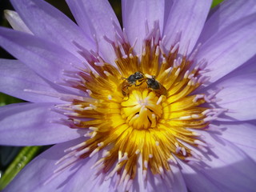
MULTIPOLYGON (((170 3, 169 3, 170 4, 170 3)), ((167 6, 170 8, 170 5, 167 6)), ((167 8, 166 8, 167 9, 167 8)), ((165 2, 162 0, 136 1, 122 0, 122 21, 131 45, 138 38, 134 50, 142 53, 143 39, 149 33, 146 30, 146 22, 149 31, 153 29, 154 22, 159 22, 162 33, 165 13, 165 2)))

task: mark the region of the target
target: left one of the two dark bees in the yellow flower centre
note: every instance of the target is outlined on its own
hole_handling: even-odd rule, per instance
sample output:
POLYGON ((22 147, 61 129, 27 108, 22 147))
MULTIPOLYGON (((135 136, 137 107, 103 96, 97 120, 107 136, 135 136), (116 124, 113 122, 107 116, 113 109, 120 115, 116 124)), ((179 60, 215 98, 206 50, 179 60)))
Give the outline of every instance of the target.
POLYGON ((142 72, 137 71, 134 74, 131 74, 128 78, 126 78, 125 81, 122 82, 122 95, 129 95, 129 86, 140 86, 143 82, 145 82, 145 77, 142 72), (137 84, 137 82, 139 83, 137 84))

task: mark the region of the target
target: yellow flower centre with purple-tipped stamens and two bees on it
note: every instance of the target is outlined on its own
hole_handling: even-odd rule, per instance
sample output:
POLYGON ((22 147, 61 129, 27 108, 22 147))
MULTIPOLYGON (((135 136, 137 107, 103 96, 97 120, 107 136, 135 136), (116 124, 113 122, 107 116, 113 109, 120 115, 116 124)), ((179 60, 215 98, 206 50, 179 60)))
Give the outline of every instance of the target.
POLYGON ((117 36, 116 42, 105 37, 113 46, 114 64, 93 51, 80 52, 90 68, 79 70, 72 86, 86 96, 58 110, 66 114, 63 123, 87 134, 58 163, 74 158, 64 163, 68 166, 102 151, 94 168, 106 178, 118 175, 117 184, 128 190, 127 183, 138 174, 138 162, 146 179, 149 173, 171 171, 170 164, 178 159, 200 161, 198 150, 208 146, 197 131, 206 130, 222 111, 207 105, 214 102, 213 95, 194 94, 207 79, 202 75, 206 63, 178 54, 178 42, 169 51, 163 49, 157 25, 145 39, 141 55, 122 34, 117 36))

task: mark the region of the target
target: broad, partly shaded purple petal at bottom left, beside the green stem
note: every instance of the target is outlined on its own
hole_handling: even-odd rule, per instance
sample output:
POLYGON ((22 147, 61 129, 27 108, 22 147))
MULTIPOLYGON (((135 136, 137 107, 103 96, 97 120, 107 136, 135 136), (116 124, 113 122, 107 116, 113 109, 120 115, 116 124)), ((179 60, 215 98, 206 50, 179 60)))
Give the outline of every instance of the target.
POLYGON ((97 170, 91 169, 98 160, 99 154, 95 154, 92 158, 81 159, 76 165, 54 176, 54 170, 62 166, 62 163, 59 165, 55 163, 65 155, 64 150, 84 140, 85 138, 78 138, 46 150, 30 162, 4 191, 109 191, 110 180, 102 183, 103 180, 100 178, 94 178, 97 170))

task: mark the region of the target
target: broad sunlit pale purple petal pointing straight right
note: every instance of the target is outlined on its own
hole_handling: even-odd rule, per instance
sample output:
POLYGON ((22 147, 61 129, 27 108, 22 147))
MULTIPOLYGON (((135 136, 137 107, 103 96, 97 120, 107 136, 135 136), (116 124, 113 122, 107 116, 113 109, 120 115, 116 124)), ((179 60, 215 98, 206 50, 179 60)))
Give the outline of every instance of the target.
POLYGON ((223 88, 216 98, 218 107, 227 109, 226 118, 223 121, 245 121, 256 117, 256 73, 241 74, 225 78, 211 86, 211 90, 223 88))

